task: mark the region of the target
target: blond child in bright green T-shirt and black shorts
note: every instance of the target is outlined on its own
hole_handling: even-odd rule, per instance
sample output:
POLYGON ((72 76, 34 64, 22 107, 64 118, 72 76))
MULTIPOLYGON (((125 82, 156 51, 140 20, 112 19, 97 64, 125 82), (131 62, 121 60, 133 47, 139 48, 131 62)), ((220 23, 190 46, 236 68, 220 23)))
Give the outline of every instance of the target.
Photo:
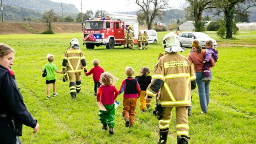
POLYGON ((54 63, 52 63, 52 61, 54 61, 54 55, 47 54, 46 58, 49 61, 49 63, 44 65, 42 71, 43 72, 45 70, 47 71, 47 74, 46 74, 46 77, 45 77, 46 84, 47 84, 47 97, 46 97, 46 99, 49 99, 50 98, 51 83, 53 84, 53 97, 58 95, 58 93, 56 92, 56 83, 55 83, 54 71, 56 71, 56 73, 59 73, 59 74, 62 74, 62 72, 58 71, 56 65, 54 63))

